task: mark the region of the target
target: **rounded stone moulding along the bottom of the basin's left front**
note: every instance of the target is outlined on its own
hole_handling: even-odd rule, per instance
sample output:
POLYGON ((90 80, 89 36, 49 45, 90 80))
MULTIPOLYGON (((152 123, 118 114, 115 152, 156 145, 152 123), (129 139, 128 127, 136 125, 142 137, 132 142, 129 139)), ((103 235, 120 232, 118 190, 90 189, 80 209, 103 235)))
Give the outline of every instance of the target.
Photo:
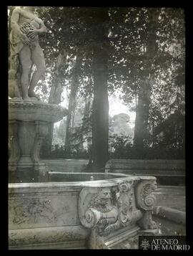
POLYGON ((71 244, 76 247, 85 243, 86 238, 89 235, 89 231, 78 226, 66 226, 66 227, 41 227, 33 229, 11 229, 9 230, 9 248, 18 249, 29 247, 47 247, 51 244, 51 249, 54 246, 62 244, 63 247, 69 247, 71 244))

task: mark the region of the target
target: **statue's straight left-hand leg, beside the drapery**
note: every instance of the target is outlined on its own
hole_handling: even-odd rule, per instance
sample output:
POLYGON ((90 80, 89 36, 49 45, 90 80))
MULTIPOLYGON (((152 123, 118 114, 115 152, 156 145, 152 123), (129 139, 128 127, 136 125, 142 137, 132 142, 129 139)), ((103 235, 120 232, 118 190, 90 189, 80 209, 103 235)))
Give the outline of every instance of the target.
POLYGON ((30 100, 28 97, 28 85, 29 85, 29 72, 31 66, 31 50, 29 46, 24 45, 24 47, 19 52, 19 60, 22 67, 21 72, 21 88, 22 88, 22 98, 23 100, 30 100))

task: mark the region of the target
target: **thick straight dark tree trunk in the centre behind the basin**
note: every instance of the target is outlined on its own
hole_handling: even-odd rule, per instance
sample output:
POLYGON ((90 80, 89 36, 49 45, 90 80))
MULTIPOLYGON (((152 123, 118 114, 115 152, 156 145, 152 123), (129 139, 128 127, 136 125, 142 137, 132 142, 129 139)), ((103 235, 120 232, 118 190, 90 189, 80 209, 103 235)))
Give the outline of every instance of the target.
POLYGON ((92 170, 103 172, 109 159, 109 100, 108 80, 108 42, 106 22, 108 10, 98 10, 96 23, 99 24, 94 46, 94 100, 92 105, 92 170))

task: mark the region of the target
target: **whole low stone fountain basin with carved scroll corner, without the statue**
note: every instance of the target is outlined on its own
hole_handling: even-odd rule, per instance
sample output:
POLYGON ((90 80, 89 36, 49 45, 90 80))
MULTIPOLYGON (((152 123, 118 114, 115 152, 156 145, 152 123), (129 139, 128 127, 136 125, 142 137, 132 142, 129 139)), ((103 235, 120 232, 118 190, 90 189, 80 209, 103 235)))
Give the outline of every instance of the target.
POLYGON ((143 232, 152 220, 156 178, 65 174, 66 182, 9 184, 9 249, 108 249, 143 232), (93 176, 94 181, 89 181, 93 176))

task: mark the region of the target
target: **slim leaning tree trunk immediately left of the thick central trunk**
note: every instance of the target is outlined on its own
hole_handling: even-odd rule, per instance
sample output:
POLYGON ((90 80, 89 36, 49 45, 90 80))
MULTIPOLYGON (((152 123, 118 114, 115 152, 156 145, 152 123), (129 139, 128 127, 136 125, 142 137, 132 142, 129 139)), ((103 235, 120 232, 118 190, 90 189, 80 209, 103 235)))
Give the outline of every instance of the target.
POLYGON ((71 154, 71 133, 74 126, 74 113, 76 108, 76 94, 79 87, 79 72, 81 65, 81 56, 79 51, 76 54, 76 63, 74 66, 74 74, 71 81, 71 92, 69 95, 69 113, 66 119, 66 137, 65 137, 65 153, 66 156, 71 154))

